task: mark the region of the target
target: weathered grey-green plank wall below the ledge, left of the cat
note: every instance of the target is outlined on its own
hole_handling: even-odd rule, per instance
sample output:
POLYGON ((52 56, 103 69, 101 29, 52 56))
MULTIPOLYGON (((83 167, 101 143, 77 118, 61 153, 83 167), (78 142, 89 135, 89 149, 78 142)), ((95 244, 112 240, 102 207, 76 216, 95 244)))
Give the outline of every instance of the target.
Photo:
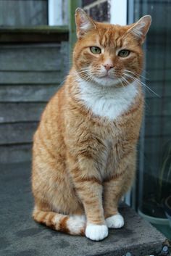
POLYGON ((67 41, 0 45, 0 162, 30 160, 33 133, 68 57, 67 41))

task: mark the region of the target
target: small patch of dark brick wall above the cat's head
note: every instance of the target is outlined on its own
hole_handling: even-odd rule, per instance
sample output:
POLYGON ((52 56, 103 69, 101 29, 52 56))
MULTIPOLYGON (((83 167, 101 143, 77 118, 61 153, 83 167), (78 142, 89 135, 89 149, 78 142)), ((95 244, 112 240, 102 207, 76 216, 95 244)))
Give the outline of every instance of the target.
POLYGON ((109 22, 110 20, 110 0, 83 0, 83 9, 94 20, 99 22, 109 22))

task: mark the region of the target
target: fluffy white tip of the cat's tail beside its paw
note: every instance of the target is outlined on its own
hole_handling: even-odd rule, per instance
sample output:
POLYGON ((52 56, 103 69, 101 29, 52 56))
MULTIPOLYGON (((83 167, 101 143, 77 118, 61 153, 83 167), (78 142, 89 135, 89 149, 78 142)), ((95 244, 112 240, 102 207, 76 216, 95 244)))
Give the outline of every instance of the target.
POLYGON ((80 230, 86 226, 85 215, 72 215, 67 220, 67 228, 70 229, 71 234, 79 234, 80 230))

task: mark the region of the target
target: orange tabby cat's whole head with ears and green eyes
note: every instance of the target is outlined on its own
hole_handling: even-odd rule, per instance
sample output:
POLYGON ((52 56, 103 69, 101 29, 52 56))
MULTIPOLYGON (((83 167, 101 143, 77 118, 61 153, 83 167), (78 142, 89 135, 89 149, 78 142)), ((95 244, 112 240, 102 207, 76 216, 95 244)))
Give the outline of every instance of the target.
POLYGON ((73 65, 83 79, 101 86, 133 82, 142 71, 142 44, 151 24, 151 16, 132 25, 95 22, 83 9, 76 9, 78 41, 73 65))

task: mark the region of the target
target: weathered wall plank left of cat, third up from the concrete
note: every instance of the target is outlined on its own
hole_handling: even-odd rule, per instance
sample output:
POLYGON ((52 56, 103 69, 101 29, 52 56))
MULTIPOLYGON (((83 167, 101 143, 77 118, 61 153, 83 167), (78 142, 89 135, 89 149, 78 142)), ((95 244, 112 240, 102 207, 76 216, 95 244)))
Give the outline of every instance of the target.
POLYGON ((0 103, 0 123, 40 120, 46 103, 0 103))

